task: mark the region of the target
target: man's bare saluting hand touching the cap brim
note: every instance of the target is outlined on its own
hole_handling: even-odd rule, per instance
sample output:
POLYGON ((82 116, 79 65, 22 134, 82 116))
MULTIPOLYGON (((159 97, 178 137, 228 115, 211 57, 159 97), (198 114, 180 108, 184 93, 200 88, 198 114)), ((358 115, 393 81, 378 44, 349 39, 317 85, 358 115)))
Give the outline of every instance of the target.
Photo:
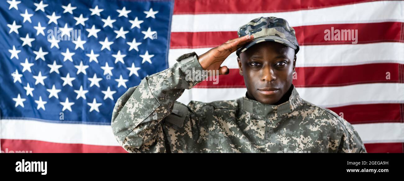
POLYGON ((227 42, 221 44, 220 46, 212 48, 206 53, 198 56, 198 61, 204 70, 212 70, 213 75, 215 75, 216 70, 219 70, 219 75, 229 74, 229 68, 227 68, 227 66, 221 67, 220 65, 231 53, 253 39, 253 35, 246 35, 227 40, 227 42))

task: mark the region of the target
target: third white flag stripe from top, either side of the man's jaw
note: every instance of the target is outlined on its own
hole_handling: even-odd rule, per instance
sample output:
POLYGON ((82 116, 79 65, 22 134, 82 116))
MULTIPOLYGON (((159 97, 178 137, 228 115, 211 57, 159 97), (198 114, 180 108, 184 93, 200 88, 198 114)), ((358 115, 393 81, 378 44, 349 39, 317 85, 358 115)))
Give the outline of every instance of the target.
MULTIPOLYGON (((296 89, 302 99, 320 107, 404 103, 404 84, 399 83, 373 83, 296 89)), ((177 101, 187 105, 191 100, 202 102, 232 100, 245 96, 245 93, 246 88, 191 88, 190 90, 185 90, 177 101)))

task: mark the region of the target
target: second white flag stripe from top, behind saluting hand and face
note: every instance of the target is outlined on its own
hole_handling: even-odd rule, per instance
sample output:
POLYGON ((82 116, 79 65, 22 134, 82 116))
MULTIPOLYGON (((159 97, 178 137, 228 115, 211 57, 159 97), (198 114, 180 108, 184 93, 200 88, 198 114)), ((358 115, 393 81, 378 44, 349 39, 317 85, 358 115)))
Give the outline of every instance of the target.
MULTIPOLYGON (((345 66, 368 63, 401 63, 404 64, 404 43, 381 42, 370 44, 339 44, 300 46, 297 53, 296 67, 345 66)), ((210 48, 179 48, 170 49, 168 63, 176 63, 177 57, 195 51, 197 55, 210 48)), ((237 55, 232 53, 222 63, 231 69, 238 69, 237 55)))

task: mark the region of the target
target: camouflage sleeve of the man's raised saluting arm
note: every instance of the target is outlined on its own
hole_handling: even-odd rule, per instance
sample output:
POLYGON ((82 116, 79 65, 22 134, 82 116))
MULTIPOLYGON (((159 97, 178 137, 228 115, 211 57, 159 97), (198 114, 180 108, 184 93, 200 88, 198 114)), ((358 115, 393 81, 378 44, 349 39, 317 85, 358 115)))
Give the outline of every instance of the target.
POLYGON ((111 126, 118 143, 132 153, 166 152, 162 120, 173 112, 173 107, 180 107, 175 109, 176 115, 189 115, 187 107, 176 100, 185 89, 201 82, 186 75, 200 76, 202 70, 198 56, 192 52, 181 55, 172 67, 145 77, 138 86, 129 88, 117 100, 112 113, 111 126))

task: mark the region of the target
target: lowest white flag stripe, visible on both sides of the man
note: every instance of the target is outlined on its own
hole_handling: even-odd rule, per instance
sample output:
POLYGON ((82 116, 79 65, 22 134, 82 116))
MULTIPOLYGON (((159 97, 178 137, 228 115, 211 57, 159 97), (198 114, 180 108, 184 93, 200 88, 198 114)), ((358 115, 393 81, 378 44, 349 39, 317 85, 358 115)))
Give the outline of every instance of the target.
MULTIPOLYGON (((29 139, 54 143, 119 146, 108 126, 1 120, 2 139, 29 139), (18 130, 18 131, 16 131, 18 130)), ((404 142, 403 123, 353 124, 363 143, 404 142)))

